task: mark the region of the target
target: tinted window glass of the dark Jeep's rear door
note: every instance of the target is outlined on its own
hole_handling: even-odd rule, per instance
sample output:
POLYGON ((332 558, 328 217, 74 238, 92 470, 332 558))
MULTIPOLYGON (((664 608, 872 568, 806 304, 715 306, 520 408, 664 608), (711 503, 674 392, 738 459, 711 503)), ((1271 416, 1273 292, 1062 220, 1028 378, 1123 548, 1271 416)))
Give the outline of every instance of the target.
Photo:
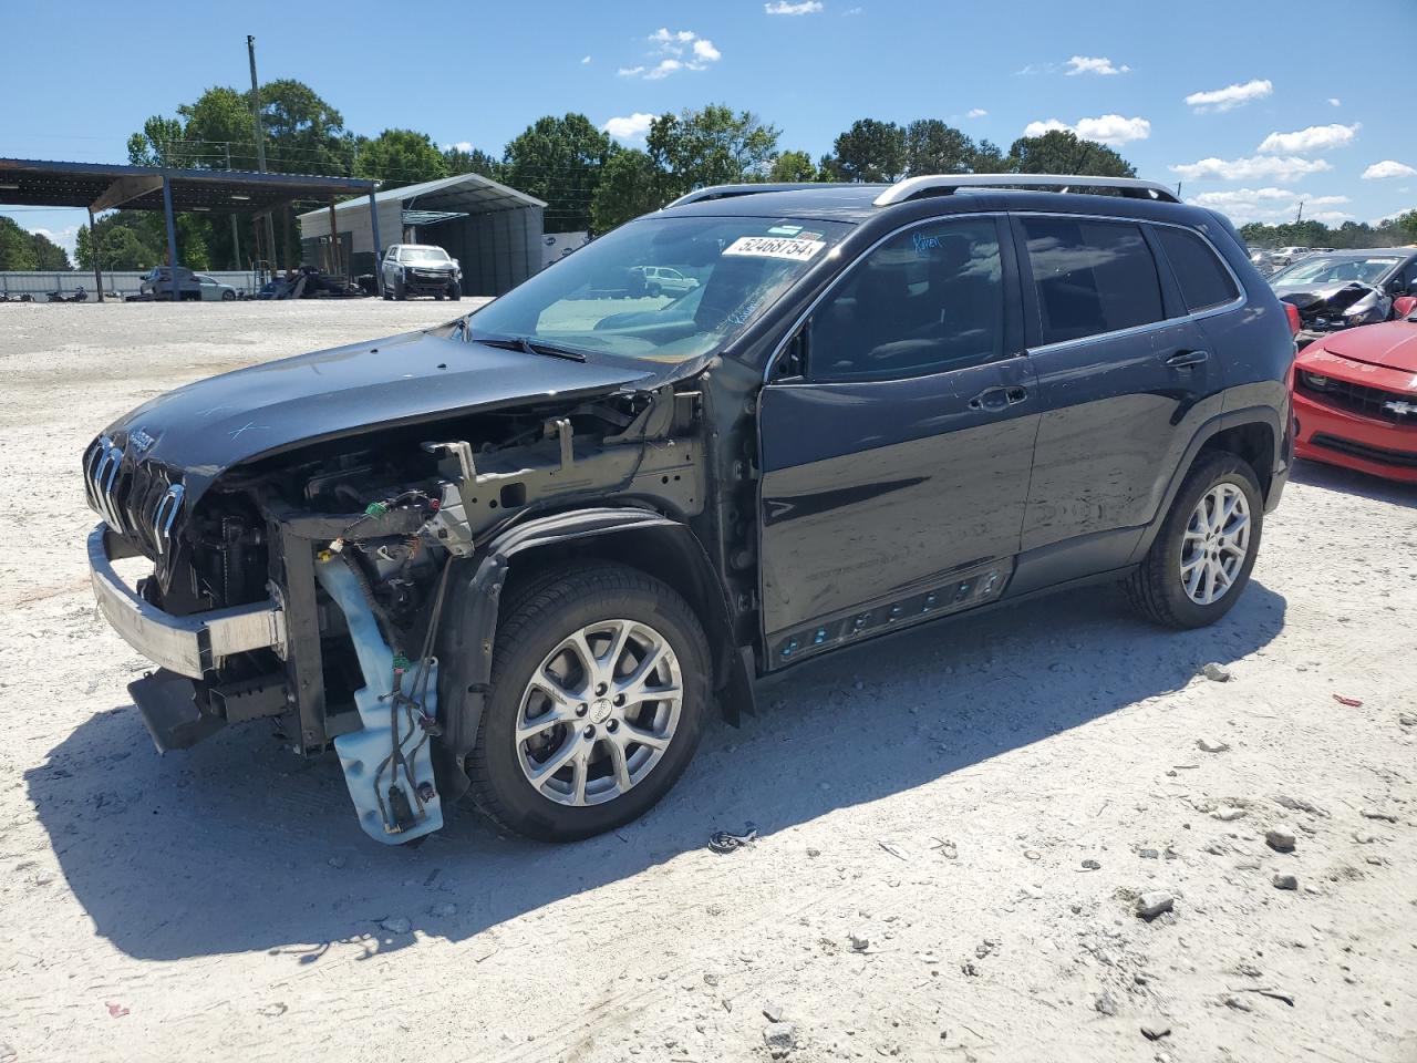
POLYGON ((1127 221, 1022 218, 1043 343, 1165 319, 1156 259, 1127 221))

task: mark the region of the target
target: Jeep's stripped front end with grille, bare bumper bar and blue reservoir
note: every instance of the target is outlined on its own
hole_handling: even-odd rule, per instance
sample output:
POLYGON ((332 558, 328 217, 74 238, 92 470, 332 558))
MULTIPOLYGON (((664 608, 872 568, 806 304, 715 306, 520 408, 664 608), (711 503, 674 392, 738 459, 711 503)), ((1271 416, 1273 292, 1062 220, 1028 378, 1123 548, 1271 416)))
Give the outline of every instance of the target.
POLYGON ((85 455, 92 583, 160 666, 129 687, 157 748, 271 719, 302 755, 334 748, 371 838, 436 831, 468 787, 507 557, 612 527, 687 534, 701 420, 684 383, 551 390, 217 475, 133 418, 111 428, 85 455), (136 557, 150 571, 123 578, 136 557))

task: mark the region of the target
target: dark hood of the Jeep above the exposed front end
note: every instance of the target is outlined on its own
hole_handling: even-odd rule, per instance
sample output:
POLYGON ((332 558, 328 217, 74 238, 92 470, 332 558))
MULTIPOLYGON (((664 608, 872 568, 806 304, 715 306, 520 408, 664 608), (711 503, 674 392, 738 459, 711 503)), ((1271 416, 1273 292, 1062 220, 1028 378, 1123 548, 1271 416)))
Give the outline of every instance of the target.
POLYGON ((193 505, 217 476, 254 458, 473 410, 606 394, 649 376, 414 332, 198 380, 103 434, 129 461, 181 471, 193 505))

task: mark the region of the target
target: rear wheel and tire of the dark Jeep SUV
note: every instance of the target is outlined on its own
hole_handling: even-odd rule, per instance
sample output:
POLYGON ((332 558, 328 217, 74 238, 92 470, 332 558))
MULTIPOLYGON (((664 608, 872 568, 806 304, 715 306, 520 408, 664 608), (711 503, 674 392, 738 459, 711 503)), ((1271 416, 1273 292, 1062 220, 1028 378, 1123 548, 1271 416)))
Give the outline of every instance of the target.
POLYGON ((1169 628, 1214 624, 1250 583, 1263 527, 1264 497, 1250 463, 1234 454, 1203 455, 1124 584, 1132 607, 1169 628))

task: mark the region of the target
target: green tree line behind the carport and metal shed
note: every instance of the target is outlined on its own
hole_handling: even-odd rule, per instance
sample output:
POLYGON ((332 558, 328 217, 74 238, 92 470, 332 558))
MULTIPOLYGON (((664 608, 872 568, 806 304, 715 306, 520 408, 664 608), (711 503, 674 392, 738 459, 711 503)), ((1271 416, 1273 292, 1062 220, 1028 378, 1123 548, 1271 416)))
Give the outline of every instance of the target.
MULTIPOLYGON (((643 147, 616 143, 585 115, 547 115, 493 154, 439 147, 415 129, 354 133, 334 106, 290 78, 262 85, 259 95, 272 171, 373 177, 391 187, 479 173, 544 200, 547 232, 605 232, 706 184, 893 181, 921 173, 1136 174, 1111 147, 1068 130, 1020 137, 1005 152, 934 118, 904 125, 859 119, 835 139, 832 152, 813 160, 808 152, 782 147, 777 126, 723 103, 653 118, 643 147)), ((179 106, 174 116, 154 115, 129 137, 129 162, 255 170, 251 102, 249 91, 217 86, 179 106)), ((292 215, 278 228, 279 245, 298 247, 292 215)), ((244 258, 251 257, 251 234, 248 223, 244 258)), ((94 235, 88 227, 79 230, 77 257, 85 268, 94 264, 94 235)), ((154 213, 103 217, 96 242, 108 269, 146 269, 166 258, 163 218, 154 213)), ((181 215, 179 248, 183 262, 197 269, 232 265, 237 258, 231 224, 220 215, 181 215)))

